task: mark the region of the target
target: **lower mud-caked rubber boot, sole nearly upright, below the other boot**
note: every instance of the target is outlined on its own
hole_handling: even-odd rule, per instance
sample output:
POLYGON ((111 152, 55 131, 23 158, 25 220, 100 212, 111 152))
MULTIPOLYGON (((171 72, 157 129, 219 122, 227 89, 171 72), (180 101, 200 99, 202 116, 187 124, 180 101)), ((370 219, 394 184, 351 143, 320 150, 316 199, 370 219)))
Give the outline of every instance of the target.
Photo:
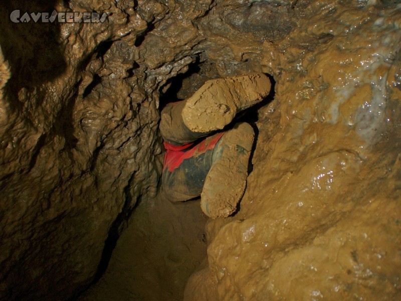
POLYGON ((228 217, 236 211, 247 183, 254 136, 252 126, 241 122, 216 144, 212 167, 200 194, 200 207, 207 216, 228 217))

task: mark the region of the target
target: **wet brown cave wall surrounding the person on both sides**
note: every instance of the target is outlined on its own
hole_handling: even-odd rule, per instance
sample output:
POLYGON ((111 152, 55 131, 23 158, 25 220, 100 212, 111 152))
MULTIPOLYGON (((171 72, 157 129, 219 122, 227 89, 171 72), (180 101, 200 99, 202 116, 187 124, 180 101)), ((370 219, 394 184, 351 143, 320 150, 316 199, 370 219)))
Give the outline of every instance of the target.
POLYGON ((257 111, 241 210, 208 224, 208 264, 186 299, 399 297, 399 12, 389 1, 3 3, 0 295, 67 299, 102 271, 135 204, 157 193, 160 96, 196 70, 178 97, 250 72, 276 86, 257 111), (112 14, 13 24, 15 9, 112 14))

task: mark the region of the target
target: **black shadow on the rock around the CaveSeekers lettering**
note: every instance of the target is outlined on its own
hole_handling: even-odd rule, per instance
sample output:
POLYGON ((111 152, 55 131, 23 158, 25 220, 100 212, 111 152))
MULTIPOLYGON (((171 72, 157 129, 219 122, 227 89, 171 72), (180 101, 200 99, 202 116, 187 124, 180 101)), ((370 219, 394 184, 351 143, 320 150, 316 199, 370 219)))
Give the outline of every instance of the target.
MULTIPOLYGON (((33 91, 54 80, 66 70, 67 63, 59 44, 60 24, 57 19, 54 23, 43 23, 41 19, 35 23, 32 18, 28 23, 13 23, 10 15, 20 10, 20 19, 25 13, 49 13, 50 16, 56 4, 56 0, 3 1, 0 4, 0 45, 12 74, 5 89, 14 111, 21 111, 24 105, 18 100, 21 88, 33 91)), ((41 93, 40 89, 37 93, 41 93)), ((36 107, 44 99, 44 95, 39 96, 36 107)))

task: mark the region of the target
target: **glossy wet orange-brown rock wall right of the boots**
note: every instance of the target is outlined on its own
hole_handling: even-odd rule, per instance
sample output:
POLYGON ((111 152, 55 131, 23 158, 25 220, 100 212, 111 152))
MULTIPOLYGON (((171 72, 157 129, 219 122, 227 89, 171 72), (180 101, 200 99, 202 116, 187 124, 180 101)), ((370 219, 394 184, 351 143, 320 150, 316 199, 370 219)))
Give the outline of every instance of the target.
POLYGON ((264 43, 254 170, 186 300, 399 298, 399 7, 382 9, 311 3, 264 43))

